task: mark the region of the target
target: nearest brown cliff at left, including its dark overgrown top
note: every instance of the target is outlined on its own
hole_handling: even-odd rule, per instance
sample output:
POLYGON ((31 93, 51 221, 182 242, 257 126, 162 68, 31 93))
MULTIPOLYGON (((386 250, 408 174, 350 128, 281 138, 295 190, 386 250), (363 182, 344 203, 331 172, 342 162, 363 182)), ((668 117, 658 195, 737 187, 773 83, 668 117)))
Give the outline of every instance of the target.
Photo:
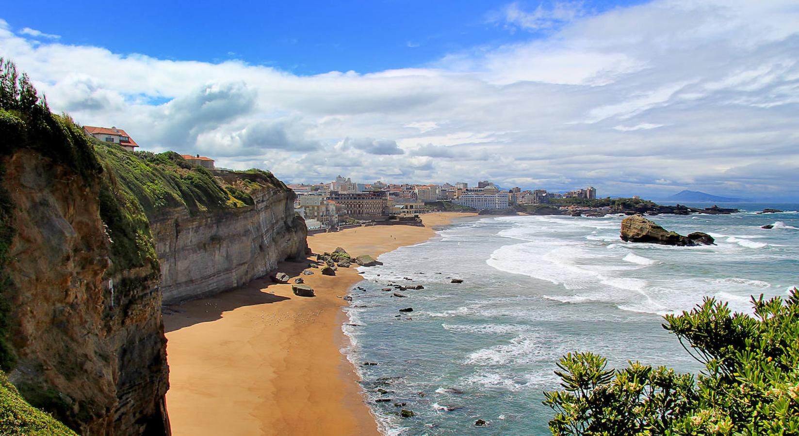
POLYGON ((141 210, 70 120, 3 103, 2 370, 80 434, 169 434, 159 270, 141 210))

